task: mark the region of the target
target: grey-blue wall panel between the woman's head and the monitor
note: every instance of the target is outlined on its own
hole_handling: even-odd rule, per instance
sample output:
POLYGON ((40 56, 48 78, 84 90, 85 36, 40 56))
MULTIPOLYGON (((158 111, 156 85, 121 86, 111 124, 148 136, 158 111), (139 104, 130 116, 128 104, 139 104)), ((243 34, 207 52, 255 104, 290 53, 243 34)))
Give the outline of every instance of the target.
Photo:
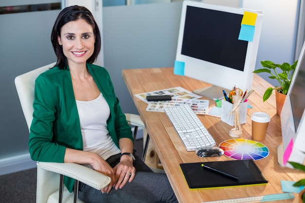
POLYGON ((137 113, 123 69, 173 67, 182 2, 103 8, 105 68, 126 113, 137 113))

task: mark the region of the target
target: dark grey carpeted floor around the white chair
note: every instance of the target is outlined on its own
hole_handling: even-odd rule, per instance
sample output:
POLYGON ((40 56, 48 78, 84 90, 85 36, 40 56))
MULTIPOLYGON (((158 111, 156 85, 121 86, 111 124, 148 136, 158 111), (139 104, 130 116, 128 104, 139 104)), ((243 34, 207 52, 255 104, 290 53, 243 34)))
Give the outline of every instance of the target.
MULTIPOLYGON (((142 157, 143 139, 137 139, 134 148, 142 157)), ((36 203, 36 173, 32 168, 0 176, 0 203, 36 203)))

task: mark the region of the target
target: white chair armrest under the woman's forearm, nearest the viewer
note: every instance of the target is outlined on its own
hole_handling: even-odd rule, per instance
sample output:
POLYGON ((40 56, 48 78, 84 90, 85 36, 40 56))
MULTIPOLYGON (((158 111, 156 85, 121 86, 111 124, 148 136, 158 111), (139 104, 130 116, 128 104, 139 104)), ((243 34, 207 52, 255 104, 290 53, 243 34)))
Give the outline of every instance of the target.
POLYGON ((37 162, 37 166, 76 179, 98 190, 107 186, 111 181, 110 177, 79 164, 37 162))

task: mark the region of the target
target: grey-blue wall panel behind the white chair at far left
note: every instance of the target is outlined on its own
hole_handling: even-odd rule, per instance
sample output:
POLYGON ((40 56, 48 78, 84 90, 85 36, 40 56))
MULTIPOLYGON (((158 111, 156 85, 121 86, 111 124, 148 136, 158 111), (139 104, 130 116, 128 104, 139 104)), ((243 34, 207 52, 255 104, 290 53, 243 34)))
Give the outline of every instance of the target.
MULTIPOLYGON (((0 6, 46 2, 56 1, 0 0, 0 6)), ((14 79, 56 60, 50 35, 58 13, 51 10, 0 15, 0 175, 36 166, 29 156, 29 130, 14 79)))

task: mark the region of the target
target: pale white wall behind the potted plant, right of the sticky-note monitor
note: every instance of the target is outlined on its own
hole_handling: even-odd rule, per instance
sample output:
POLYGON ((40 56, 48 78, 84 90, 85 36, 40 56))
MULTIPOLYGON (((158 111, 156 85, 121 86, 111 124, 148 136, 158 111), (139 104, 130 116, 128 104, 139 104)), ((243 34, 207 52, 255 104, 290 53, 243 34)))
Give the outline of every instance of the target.
MULTIPOLYGON (((256 69, 262 67, 262 60, 280 64, 295 61, 298 5, 299 0, 243 0, 242 7, 264 13, 256 69)), ((267 78, 268 74, 260 75, 272 85, 278 85, 267 78)))

